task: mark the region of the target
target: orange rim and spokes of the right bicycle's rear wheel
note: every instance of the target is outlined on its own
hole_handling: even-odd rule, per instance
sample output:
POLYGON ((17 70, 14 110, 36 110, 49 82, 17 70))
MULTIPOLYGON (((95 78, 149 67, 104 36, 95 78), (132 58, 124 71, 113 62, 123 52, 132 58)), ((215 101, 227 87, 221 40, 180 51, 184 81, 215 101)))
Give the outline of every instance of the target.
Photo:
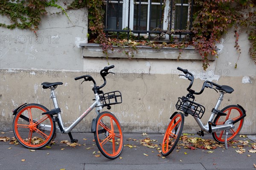
MULTIPOLYGON (((231 118, 233 121, 235 121, 235 120, 237 120, 238 118, 240 118, 240 117, 243 115, 243 113, 241 112, 241 110, 240 110, 239 108, 237 108, 237 107, 229 107, 229 108, 227 108, 226 110, 224 110, 224 113, 225 113, 225 112, 227 113, 227 116, 226 116, 226 118, 225 118, 225 121, 227 121, 229 118, 231 118), (232 115, 231 115, 231 110, 232 110, 232 109, 235 109, 236 111, 238 111, 238 112, 239 112, 239 116, 236 116, 236 117, 232 118, 232 115)), ((216 121, 216 125, 224 124, 225 121, 219 121, 219 118, 221 118, 221 117, 218 117, 218 119, 217 119, 217 121, 216 121), (218 122, 218 121, 219 121, 219 122, 218 122)), ((239 133, 239 131, 240 131, 242 125, 243 125, 243 121, 244 121, 243 119, 241 119, 241 121, 239 121, 239 126, 238 126, 238 128, 237 128, 236 130, 230 129, 230 132, 232 133, 232 135, 231 135, 229 138, 227 138, 227 141, 231 140, 231 139, 233 138, 233 136, 236 136, 236 135, 239 133)), ((218 141, 224 142, 224 141, 225 141, 224 130, 221 131, 220 134, 216 134, 216 133, 215 133, 215 137, 218 139, 218 141), (222 138, 222 137, 223 137, 223 138, 222 138)))

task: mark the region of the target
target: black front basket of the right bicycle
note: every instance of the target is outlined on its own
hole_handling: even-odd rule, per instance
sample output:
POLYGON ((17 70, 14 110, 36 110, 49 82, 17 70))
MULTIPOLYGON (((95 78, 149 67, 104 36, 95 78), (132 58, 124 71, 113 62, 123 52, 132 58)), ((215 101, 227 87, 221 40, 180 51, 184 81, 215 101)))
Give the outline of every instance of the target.
POLYGON ((184 113, 190 114, 192 116, 202 118, 205 112, 204 106, 201 104, 195 103, 194 99, 195 97, 191 98, 189 97, 182 97, 178 98, 177 104, 175 105, 177 110, 183 111, 184 113), (190 100, 189 100, 190 99, 190 100))

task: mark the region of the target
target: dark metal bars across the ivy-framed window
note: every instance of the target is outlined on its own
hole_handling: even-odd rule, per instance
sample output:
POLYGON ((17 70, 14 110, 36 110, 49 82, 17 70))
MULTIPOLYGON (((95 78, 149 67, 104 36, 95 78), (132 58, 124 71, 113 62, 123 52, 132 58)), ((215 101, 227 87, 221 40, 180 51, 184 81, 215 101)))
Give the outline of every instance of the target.
MULTIPOLYGON (((120 4, 120 0, 116 0, 117 1, 117 13, 116 13, 116 29, 109 29, 108 28, 108 17, 109 17, 109 6, 110 6, 110 3, 113 3, 113 1, 110 1, 110 0, 107 0, 105 1, 107 3, 106 5, 106 22, 105 22, 105 28, 104 31, 106 32, 106 36, 108 37, 109 36, 109 32, 116 32, 117 33, 117 38, 119 36, 119 32, 127 32, 127 39, 130 38, 130 15, 131 15, 131 0, 127 0, 128 1, 128 23, 127 23, 127 27, 128 29, 127 30, 123 30, 122 29, 122 26, 120 26, 120 23, 119 23, 119 12, 118 10, 122 10, 119 8, 119 4, 120 4)), ((116 2, 115 1, 115 2, 116 2)), ((170 0, 170 3, 171 3, 171 9, 170 9, 170 16, 169 17, 169 20, 170 20, 170 23, 169 23, 169 31, 172 29, 172 13, 173 13, 173 8, 172 6, 174 5, 174 2, 175 0, 170 0)), ((150 27, 151 27, 151 14, 152 14, 152 9, 151 9, 151 6, 152 6, 152 2, 151 0, 149 1, 149 29, 147 29, 146 31, 145 30, 140 30, 140 14, 141 14, 141 0, 139 0, 139 3, 137 4, 138 5, 138 10, 137 10, 137 16, 138 17, 138 20, 136 21, 137 24, 136 24, 136 29, 137 30, 131 30, 132 33, 137 33, 138 34, 138 38, 140 38, 140 34, 148 34, 148 39, 150 40, 151 38, 151 34, 159 34, 161 35, 162 32, 160 31, 151 31, 150 30, 150 27)), ((190 21, 190 24, 189 24, 189 30, 192 28, 192 14, 193 14, 193 4, 194 4, 194 0, 192 0, 191 2, 191 6, 190 6, 190 14, 189 14, 189 21, 190 21)), ((160 15, 159 15, 159 27, 161 28, 161 23, 162 23, 162 6, 163 6, 163 0, 160 0, 160 15)), ((181 0, 181 10, 180 10, 180 15, 182 16, 183 14, 183 0, 181 0)), ((180 17, 180 29, 182 28, 182 17, 180 17)), ((166 31, 163 31, 163 33, 166 33, 166 31)), ((189 35, 189 40, 192 40, 192 32, 175 32, 176 35, 179 35, 179 40, 181 40, 181 37, 182 35, 189 35)))

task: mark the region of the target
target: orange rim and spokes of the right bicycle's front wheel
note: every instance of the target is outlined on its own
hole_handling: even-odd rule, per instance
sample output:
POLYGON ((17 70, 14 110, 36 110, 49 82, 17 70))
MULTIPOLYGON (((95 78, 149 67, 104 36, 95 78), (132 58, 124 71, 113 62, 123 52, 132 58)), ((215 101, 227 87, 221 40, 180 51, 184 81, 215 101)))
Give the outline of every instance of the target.
POLYGON ((172 137, 175 140, 177 139, 177 135, 172 133, 172 130, 180 123, 181 121, 181 115, 177 114, 174 118, 172 118, 172 121, 169 123, 169 126, 166 129, 166 133, 163 137, 163 143, 162 143, 162 152, 165 154, 169 151, 169 147, 172 147, 173 142, 171 145, 169 145, 169 138, 172 137), (175 120, 178 118, 177 122, 175 123, 175 120))

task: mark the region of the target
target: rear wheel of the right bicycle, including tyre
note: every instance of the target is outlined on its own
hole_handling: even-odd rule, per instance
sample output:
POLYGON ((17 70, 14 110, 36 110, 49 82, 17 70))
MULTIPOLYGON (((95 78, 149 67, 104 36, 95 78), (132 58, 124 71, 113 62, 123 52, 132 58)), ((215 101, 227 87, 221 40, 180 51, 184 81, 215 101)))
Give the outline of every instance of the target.
MULTIPOLYGON (((221 112, 227 113, 227 115, 226 116, 216 116, 213 123, 215 123, 217 126, 225 124, 225 122, 230 119, 235 121, 236 119, 240 118, 242 115, 245 114, 241 110, 241 108, 238 107, 237 105, 227 106, 224 109, 222 109, 221 112)), ((235 138, 236 135, 239 134, 243 124, 244 124, 244 118, 242 118, 240 121, 236 122, 235 129, 230 129, 230 134, 229 134, 230 136, 227 138, 227 141, 233 140, 233 138, 235 138)), ((225 130, 212 133, 212 137, 214 138, 215 141, 224 143, 225 142, 225 133, 224 132, 225 132, 225 130)))

